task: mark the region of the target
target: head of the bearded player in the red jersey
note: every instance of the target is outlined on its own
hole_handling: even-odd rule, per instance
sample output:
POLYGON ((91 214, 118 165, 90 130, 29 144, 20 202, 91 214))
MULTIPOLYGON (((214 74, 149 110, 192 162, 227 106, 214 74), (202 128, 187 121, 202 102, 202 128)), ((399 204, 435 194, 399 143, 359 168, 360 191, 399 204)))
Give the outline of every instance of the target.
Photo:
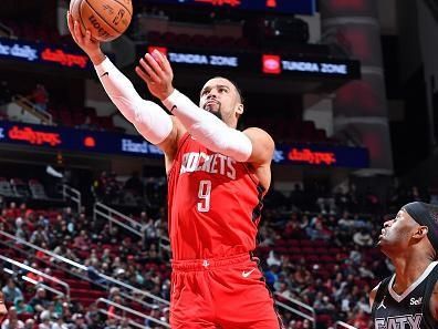
POLYGON ((236 83, 221 76, 207 81, 200 92, 199 107, 236 127, 243 113, 243 99, 236 83))

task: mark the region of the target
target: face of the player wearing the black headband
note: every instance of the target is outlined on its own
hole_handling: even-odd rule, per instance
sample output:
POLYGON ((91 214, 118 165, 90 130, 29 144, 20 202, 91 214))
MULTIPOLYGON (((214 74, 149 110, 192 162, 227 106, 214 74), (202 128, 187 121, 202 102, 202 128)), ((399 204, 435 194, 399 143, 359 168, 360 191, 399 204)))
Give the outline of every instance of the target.
POLYGON ((385 251, 400 251, 409 247, 418 223, 406 210, 400 209, 394 219, 387 220, 378 237, 378 246, 385 251))

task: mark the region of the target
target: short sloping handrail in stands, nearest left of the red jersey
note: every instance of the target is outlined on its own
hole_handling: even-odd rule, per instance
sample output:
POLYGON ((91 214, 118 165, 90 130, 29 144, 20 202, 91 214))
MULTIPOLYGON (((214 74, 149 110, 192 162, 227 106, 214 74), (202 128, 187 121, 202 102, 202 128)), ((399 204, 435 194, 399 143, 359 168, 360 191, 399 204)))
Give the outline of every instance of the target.
POLYGON ((93 220, 96 222, 100 216, 109 222, 109 228, 115 224, 139 237, 143 236, 140 223, 108 207, 107 205, 104 205, 103 203, 95 203, 93 207, 93 220))

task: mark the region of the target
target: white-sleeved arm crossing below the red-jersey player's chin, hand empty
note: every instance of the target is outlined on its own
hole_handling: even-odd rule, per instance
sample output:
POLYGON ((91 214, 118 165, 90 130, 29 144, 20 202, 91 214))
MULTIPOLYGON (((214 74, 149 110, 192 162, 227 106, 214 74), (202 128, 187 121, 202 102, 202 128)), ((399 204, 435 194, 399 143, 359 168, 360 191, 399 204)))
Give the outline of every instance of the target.
POLYGON ((274 144, 261 130, 244 133, 227 125, 208 111, 201 110, 173 86, 174 73, 167 58, 158 51, 140 60, 137 74, 149 91, 177 116, 189 133, 211 151, 233 157, 239 162, 270 163, 274 144))

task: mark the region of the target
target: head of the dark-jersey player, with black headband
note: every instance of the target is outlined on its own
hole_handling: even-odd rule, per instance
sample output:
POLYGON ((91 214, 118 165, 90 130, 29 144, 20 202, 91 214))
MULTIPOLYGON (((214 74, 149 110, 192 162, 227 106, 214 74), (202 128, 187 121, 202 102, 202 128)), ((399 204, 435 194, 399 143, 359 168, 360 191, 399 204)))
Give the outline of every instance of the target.
POLYGON ((394 219, 385 222, 378 245, 389 257, 418 248, 430 253, 435 259, 438 251, 438 207, 420 202, 403 206, 394 219))

